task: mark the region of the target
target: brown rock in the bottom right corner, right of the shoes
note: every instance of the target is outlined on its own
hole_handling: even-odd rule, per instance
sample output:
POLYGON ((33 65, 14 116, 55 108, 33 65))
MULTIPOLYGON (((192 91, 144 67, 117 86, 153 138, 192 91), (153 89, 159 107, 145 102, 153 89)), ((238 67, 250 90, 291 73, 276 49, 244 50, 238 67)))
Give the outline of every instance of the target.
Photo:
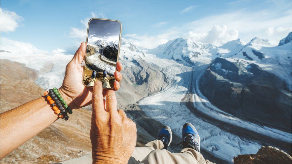
POLYGON ((256 154, 244 154, 234 157, 234 164, 292 163, 292 157, 272 146, 261 147, 256 154))

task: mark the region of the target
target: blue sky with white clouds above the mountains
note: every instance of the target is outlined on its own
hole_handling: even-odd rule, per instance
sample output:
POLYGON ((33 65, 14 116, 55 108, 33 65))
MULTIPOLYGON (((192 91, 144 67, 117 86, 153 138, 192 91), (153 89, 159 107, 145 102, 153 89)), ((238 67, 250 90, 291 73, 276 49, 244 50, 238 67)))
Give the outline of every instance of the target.
POLYGON ((222 45, 254 37, 277 45, 292 31, 291 0, 1 1, 1 50, 74 53, 91 18, 119 20, 122 40, 155 48, 188 37, 222 45))

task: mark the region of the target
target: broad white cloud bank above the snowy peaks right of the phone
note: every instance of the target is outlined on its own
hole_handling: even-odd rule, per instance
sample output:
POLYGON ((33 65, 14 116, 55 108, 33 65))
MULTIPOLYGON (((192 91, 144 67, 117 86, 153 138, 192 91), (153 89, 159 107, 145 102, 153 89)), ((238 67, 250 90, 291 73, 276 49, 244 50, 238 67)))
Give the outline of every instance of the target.
POLYGON ((272 44, 277 45, 279 40, 285 38, 292 31, 291 19, 291 10, 282 13, 272 10, 257 12, 240 10, 207 16, 180 26, 172 26, 159 35, 135 35, 131 38, 139 43, 137 46, 146 48, 157 47, 169 39, 182 36, 189 37, 194 41, 216 45, 237 38, 249 42, 257 36, 269 39, 272 44))

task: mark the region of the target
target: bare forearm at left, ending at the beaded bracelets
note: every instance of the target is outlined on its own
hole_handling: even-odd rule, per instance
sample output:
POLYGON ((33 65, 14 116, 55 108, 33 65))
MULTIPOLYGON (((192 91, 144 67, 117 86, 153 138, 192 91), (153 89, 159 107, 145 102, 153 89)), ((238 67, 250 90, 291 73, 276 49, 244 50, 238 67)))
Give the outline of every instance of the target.
POLYGON ((1 158, 58 119, 44 97, 27 102, 1 117, 1 158))

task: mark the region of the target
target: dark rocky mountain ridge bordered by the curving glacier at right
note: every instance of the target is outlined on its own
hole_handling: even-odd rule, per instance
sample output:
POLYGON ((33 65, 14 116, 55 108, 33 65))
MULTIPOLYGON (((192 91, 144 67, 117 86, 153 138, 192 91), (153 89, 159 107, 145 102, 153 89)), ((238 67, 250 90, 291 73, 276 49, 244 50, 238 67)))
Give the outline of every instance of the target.
POLYGON ((291 132, 291 92, 258 65, 216 58, 200 79, 200 90, 229 114, 291 132))

